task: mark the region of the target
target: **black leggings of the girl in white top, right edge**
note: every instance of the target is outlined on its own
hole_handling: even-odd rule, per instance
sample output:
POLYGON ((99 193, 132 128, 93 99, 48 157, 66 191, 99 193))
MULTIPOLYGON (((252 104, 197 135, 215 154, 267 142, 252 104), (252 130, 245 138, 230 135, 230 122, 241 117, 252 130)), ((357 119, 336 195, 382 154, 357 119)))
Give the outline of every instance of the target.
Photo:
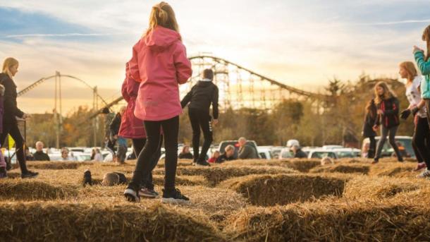
POLYGON ((426 162, 427 167, 430 167, 430 128, 427 118, 418 117, 417 126, 415 126, 412 145, 417 147, 417 156, 426 162))

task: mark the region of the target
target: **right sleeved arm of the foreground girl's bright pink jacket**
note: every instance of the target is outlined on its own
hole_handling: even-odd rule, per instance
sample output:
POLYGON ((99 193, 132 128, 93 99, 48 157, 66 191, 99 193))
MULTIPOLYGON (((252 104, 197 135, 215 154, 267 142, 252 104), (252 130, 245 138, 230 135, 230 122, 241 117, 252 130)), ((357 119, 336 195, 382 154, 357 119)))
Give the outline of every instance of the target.
POLYGON ((173 52, 173 61, 176 68, 176 80, 179 84, 184 84, 192 75, 191 61, 187 58, 187 51, 182 42, 176 44, 173 52))

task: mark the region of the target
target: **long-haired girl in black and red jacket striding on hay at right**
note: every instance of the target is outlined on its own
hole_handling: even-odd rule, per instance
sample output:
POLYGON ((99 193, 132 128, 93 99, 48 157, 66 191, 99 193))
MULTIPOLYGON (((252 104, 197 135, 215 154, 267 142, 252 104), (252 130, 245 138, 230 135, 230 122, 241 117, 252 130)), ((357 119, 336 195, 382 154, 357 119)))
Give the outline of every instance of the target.
POLYGON ((398 161, 403 162, 402 154, 395 143, 395 133, 397 133, 397 129, 400 124, 399 101, 385 82, 376 83, 375 96, 375 104, 377 108, 376 114, 378 114, 378 117, 373 129, 374 131, 377 131, 381 125, 381 140, 379 140, 378 147, 376 147, 376 156, 374 157, 372 164, 379 162, 382 147, 387 140, 387 135, 389 135, 388 142, 391 147, 393 147, 398 161))

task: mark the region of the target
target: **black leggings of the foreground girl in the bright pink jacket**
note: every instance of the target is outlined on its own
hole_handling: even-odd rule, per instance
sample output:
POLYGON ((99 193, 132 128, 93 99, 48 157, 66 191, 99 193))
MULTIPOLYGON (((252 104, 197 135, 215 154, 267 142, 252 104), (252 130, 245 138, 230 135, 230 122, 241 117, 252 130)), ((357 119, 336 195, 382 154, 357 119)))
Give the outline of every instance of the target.
POLYGON ((164 189, 175 189, 176 166, 178 164, 178 131, 179 116, 163 121, 144 121, 147 131, 147 143, 137 157, 137 163, 133 179, 128 188, 139 190, 144 174, 151 172, 152 157, 159 148, 160 128, 163 128, 164 147, 166 149, 164 189))

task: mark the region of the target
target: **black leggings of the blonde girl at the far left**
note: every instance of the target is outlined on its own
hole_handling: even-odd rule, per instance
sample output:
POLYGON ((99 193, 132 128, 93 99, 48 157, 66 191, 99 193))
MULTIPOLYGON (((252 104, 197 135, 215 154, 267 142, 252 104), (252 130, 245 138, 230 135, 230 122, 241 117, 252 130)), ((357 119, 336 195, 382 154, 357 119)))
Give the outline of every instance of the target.
POLYGON ((3 123, 3 133, 0 135, 1 147, 4 147, 7 135, 11 135, 15 140, 16 145, 16 159, 20 164, 21 173, 25 174, 28 172, 27 165, 25 164, 25 152, 24 152, 24 138, 18 128, 18 123, 3 123))

